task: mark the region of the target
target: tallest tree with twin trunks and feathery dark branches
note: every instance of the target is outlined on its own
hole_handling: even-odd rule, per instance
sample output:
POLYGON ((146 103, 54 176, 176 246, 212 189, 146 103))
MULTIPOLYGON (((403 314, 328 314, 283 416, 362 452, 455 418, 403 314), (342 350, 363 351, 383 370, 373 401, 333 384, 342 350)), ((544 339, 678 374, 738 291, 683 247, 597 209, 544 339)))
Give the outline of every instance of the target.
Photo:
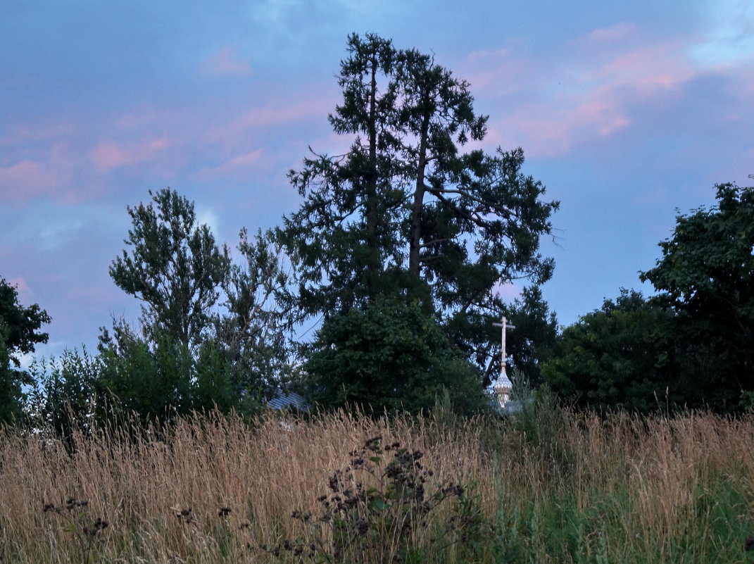
POLYGON ((418 299, 449 326, 446 346, 486 368, 486 328, 502 305, 495 284, 550 277, 538 246, 557 202, 541 201, 520 149, 462 152, 483 139, 487 118, 474 113, 469 84, 433 57, 351 35, 339 84, 330 123, 353 136, 350 149, 290 173, 304 198, 278 233, 300 259, 291 305, 328 318, 418 299))

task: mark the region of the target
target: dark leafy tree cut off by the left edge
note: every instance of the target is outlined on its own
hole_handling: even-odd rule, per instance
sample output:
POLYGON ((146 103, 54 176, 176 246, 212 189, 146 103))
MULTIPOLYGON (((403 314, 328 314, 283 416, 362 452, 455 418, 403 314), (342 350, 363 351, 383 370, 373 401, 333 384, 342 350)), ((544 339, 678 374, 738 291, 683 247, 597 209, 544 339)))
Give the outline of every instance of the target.
POLYGON ((50 316, 37 304, 23 307, 15 287, 0 278, 0 423, 23 414, 23 385, 31 379, 21 370, 20 354, 34 351, 34 346, 48 342, 48 333, 40 333, 50 316))

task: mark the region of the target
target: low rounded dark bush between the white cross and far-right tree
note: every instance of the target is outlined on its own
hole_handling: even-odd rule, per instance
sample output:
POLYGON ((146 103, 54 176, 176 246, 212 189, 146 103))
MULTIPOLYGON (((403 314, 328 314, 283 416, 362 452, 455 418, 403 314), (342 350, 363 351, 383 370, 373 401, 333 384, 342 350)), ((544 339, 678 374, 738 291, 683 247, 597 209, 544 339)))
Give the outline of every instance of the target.
POLYGON ((544 363, 550 387, 578 406, 647 412, 685 400, 673 365, 673 314, 641 293, 615 301, 566 327, 559 357, 544 363), (667 393, 667 396, 666 396, 667 393))

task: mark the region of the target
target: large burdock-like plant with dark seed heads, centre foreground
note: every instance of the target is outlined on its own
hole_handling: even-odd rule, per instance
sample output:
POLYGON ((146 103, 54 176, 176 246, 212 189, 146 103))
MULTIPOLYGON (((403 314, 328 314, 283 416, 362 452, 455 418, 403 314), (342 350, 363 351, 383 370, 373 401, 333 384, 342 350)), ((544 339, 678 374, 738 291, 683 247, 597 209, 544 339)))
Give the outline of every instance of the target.
POLYGON ((308 541, 285 540, 260 548, 273 556, 289 553, 317 564, 393 564, 425 559, 418 542, 420 529, 429 529, 429 544, 435 550, 453 544, 472 547, 492 533, 463 486, 432 482, 434 473, 421 464, 421 451, 381 442, 382 437, 372 437, 350 453, 351 464, 335 471, 328 480, 329 491, 317 498, 317 515, 293 511, 293 518, 311 531, 308 541), (451 515, 431 527, 431 515, 451 499, 451 515))

